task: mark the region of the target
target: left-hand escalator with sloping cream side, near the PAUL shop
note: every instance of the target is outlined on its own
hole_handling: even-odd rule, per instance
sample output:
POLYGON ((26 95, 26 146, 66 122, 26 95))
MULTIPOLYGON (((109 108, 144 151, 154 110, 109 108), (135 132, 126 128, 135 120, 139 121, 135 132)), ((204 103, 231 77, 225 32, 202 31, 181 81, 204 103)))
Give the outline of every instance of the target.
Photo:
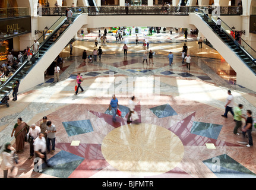
MULTIPOLYGON (((12 84, 15 83, 16 80, 20 81, 20 87, 19 91, 27 90, 27 88, 31 88, 34 85, 37 85, 37 80, 41 82, 44 81, 43 72, 48 68, 48 66, 52 63, 52 61, 56 58, 58 54, 50 55, 49 50, 54 47, 54 49, 59 48, 60 51, 67 45, 67 43, 74 37, 74 34, 80 29, 81 24, 75 24, 77 19, 82 15, 81 13, 83 10, 77 9, 77 11, 74 11, 73 17, 72 17, 72 24, 69 25, 66 17, 60 17, 59 23, 56 21, 58 26, 54 26, 55 29, 52 31, 52 33, 46 37, 45 40, 43 40, 42 43, 40 43, 39 51, 35 54, 33 54, 30 61, 26 59, 23 64, 20 66, 20 68, 17 69, 17 71, 14 72, 14 74, 8 78, 7 81, 5 81, 4 84, 0 87, 0 101, 4 96, 7 96, 12 91, 12 84), (76 29, 74 30, 74 26, 76 26, 76 29), (74 30, 72 33, 73 35, 69 36, 69 39, 63 39, 67 40, 67 43, 65 43, 62 47, 58 47, 58 41, 61 41, 62 36, 64 36, 65 33, 67 33, 68 30, 74 30), (46 54, 48 55, 46 56, 46 54), (37 54, 39 58, 37 58, 37 54), (43 68, 42 68, 43 65, 43 68), (39 68, 42 69, 39 72, 39 68), (40 74, 43 76, 43 78, 40 78, 40 74), (36 77, 36 80, 35 80, 36 77), (40 79, 39 79, 40 78, 40 79), (24 85, 26 87, 24 87, 24 85), (24 88, 23 88, 24 87, 24 88)), ((85 23, 86 24, 86 23, 85 23)), ((53 24, 54 25, 54 24, 53 24)), ((55 24, 56 25, 56 24, 55 24)), ((52 29, 52 27, 49 28, 49 30, 52 29)), ((40 42, 39 39, 38 41, 40 42)), ((31 47, 32 49, 32 47, 31 47)))

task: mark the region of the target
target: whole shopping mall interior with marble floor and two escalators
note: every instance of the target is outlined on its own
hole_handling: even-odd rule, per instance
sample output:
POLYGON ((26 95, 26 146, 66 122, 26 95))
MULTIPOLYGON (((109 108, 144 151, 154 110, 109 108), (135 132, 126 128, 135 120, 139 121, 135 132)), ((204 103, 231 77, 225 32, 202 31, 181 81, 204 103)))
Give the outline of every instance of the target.
POLYGON ((256 2, 125 2, 1 1, 0 150, 24 145, 8 178, 256 178, 243 133, 251 110, 256 141, 256 2), (232 113, 223 117, 228 90, 233 110, 243 105, 236 133, 232 113), (138 118, 129 122, 132 96, 138 118), (40 126, 44 116, 56 127, 55 148, 49 167, 39 159, 35 168, 30 143, 11 134, 18 118, 40 126))

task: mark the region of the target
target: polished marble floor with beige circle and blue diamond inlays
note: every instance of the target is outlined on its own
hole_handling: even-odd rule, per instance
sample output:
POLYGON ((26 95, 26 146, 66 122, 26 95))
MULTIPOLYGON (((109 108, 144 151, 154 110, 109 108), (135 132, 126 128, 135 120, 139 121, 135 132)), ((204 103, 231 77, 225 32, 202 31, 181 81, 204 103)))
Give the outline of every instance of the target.
POLYGON ((216 50, 199 49, 193 40, 187 45, 190 71, 182 63, 183 42, 152 43, 154 64, 148 65, 142 64, 146 50, 140 44, 128 43, 125 57, 122 43, 108 43, 93 63, 81 56, 84 49, 90 54, 97 48, 90 40, 75 41, 73 56, 65 47, 58 83, 48 76, 19 93, 10 107, 0 107, 1 145, 10 141, 15 147, 11 130, 19 117, 39 125, 47 116, 57 129, 55 154, 48 154, 52 167, 34 172, 26 143, 15 178, 256 178, 255 147, 239 144, 232 116, 221 116, 227 90, 235 105, 244 105, 243 113, 251 109, 255 116, 256 93, 235 83, 235 72, 216 50), (74 96, 78 72, 84 91, 74 96), (122 112, 116 122, 109 110, 112 94, 122 112), (129 124, 133 95, 139 119, 129 124))

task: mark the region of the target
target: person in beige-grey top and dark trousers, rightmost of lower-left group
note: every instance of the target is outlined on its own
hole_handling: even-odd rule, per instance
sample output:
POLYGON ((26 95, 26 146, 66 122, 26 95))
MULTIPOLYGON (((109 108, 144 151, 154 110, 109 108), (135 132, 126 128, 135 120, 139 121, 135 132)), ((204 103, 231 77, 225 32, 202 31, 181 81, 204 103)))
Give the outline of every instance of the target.
POLYGON ((55 151, 55 133, 56 133, 56 126, 52 124, 51 121, 46 122, 47 129, 47 140, 46 140, 46 148, 47 152, 50 154, 54 154, 55 151), (50 143, 52 143, 52 151, 50 151, 50 143))

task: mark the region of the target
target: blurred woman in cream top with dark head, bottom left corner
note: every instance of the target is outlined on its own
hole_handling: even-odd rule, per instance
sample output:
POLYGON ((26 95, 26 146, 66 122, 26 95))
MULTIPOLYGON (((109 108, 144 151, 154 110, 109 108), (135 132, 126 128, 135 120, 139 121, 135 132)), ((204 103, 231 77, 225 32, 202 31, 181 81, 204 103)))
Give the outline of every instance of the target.
POLYGON ((11 170, 11 172, 14 169, 14 155, 15 149, 11 146, 11 143, 5 144, 5 150, 2 151, 2 162, 1 162, 1 169, 4 170, 4 178, 7 178, 8 176, 8 170, 11 170))

